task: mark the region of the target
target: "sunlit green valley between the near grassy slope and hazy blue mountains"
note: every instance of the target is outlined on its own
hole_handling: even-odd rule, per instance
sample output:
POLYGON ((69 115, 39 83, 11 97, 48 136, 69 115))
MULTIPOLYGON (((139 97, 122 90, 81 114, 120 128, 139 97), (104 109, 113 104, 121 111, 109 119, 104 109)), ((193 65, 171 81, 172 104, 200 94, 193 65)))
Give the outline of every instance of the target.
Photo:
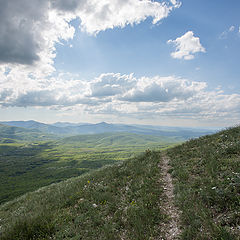
POLYGON ((0 203, 54 182, 126 160, 146 148, 165 148, 174 138, 98 134, 57 142, 0 144, 0 203))

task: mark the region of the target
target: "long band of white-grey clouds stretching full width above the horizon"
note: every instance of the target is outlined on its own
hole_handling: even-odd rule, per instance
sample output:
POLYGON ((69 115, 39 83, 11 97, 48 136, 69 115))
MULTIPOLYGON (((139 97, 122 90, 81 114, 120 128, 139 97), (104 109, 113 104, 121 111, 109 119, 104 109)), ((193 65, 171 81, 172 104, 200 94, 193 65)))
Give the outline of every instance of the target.
POLYGON ((119 73, 101 74, 90 81, 71 74, 46 80, 6 73, 1 68, 0 106, 72 109, 91 115, 141 119, 240 117, 239 94, 208 90, 205 82, 175 76, 136 78, 119 73), (20 83, 23 77, 25 80, 20 83))

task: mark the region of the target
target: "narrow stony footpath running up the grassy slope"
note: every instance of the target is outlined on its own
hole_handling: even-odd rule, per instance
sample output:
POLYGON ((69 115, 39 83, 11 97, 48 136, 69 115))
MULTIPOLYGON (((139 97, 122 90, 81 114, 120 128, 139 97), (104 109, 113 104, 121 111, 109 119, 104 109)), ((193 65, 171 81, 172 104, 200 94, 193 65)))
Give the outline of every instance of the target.
MULTIPOLYGON (((173 193, 173 183, 172 176, 169 173, 169 157, 162 153, 162 161, 159 163, 159 168, 162 172, 162 181, 164 194, 166 195, 166 200, 164 201, 161 208, 164 210, 165 214, 169 216, 169 222, 161 225, 161 228, 164 228, 166 240, 175 240, 178 239, 180 234, 179 227, 179 209, 174 204, 174 193, 173 193)), ((160 238, 163 239, 163 238, 160 238)))

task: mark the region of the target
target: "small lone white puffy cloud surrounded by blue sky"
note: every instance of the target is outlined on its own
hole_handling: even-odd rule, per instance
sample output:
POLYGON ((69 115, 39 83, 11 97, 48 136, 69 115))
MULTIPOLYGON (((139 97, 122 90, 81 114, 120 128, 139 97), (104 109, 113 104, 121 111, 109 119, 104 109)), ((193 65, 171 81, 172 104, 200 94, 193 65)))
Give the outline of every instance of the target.
POLYGON ((171 53, 171 56, 177 59, 192 60, 194 59, 194 53, 206 52, 200 43, 200 39, 194 37, 192 31, 186 32, 176 40, 168 40, 167 43, 173 43, 176 46, 176 51, 171 53))

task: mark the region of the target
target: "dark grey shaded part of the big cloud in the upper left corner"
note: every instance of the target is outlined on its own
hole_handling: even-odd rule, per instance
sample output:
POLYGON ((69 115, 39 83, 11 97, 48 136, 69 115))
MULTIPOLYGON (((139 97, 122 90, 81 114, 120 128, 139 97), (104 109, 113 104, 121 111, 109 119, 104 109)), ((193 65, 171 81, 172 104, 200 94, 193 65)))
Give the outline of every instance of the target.
POLYGON ((0 62, 32 64, 39 60, 38 39, 35 31, 44 21, 46 1, 0 1, 0 62))

